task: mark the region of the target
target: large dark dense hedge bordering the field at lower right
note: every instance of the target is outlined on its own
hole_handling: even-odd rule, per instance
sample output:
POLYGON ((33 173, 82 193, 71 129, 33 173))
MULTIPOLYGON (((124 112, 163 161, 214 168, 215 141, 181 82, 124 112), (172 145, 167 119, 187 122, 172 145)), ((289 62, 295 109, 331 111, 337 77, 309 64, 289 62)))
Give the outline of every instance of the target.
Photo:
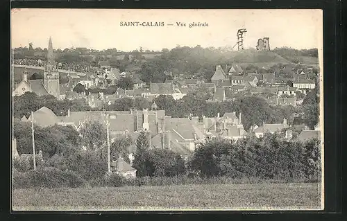
POLYGON ((233 143, 211 139, 194 152, 189 168, 202 177, 227 176, 317 181, 321 176, 320 141, 287 142, 276 134, 248 136, 233 143))

